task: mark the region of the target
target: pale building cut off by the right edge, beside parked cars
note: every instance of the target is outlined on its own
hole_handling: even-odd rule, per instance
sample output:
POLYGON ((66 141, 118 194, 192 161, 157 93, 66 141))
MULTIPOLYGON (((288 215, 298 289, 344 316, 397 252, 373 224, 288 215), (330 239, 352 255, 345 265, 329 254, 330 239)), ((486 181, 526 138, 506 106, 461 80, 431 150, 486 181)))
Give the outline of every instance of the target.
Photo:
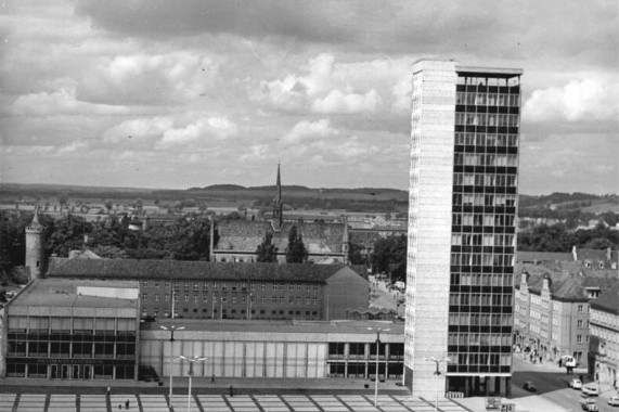
POLYGON ((589 374, 604 388, 619 389, 619 281, 591 302, 589 374))

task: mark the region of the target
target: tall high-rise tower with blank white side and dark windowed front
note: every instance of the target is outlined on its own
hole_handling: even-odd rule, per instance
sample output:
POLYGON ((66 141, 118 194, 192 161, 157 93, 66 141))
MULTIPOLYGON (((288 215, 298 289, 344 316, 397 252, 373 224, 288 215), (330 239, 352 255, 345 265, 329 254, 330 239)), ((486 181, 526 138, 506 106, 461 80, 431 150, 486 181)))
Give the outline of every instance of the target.
POLYGON ((413 65, 404 383, 414 396, 510 391, 521 75, 413 65))

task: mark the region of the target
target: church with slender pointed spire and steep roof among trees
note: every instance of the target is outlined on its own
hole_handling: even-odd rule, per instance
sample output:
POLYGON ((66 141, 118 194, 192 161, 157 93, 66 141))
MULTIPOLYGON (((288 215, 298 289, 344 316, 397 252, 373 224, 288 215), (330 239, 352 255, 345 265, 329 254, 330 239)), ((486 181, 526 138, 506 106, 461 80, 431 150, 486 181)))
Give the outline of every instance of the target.
POLYGON ((256 249, 271 235, 271 244, 278 248, 278 261, 286 261, 288 234, 295 227, 301 235, 308 252, 307 261, 348 263, 348 224, 346 219, 339 221, 288 220, 284 215, 280 167, 278 166, 276 194, 273 199, 271 219, 267 221, 225 220, 216 222, 217 234, 211 234, 211 261, 219 262, 254 262, 256 249))

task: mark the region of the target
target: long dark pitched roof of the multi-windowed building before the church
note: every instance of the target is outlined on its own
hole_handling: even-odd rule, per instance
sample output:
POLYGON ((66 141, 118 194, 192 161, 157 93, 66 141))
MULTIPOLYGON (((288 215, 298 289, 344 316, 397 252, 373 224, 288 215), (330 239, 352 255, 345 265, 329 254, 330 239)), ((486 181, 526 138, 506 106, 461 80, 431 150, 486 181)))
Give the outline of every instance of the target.
POLYGON ((345 265, 51 258, 49 278, 325 282, 345 265))

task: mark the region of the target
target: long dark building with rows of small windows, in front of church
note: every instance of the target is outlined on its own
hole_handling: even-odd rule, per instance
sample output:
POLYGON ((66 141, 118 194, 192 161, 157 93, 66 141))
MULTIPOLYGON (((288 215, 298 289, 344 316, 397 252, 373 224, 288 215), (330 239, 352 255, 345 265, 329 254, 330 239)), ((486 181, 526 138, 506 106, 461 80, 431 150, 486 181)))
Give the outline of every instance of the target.
POLYGON ((51 258, 49 279, 140 282, 143 319, 346 319, 370 284, 344 265, 51 258))

